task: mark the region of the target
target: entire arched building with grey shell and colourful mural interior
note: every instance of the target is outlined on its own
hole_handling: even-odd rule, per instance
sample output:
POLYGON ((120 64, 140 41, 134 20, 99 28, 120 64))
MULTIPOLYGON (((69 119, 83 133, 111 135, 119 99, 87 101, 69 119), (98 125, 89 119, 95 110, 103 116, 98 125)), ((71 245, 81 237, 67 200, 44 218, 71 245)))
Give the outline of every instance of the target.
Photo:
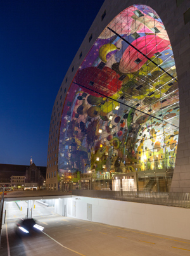
POLYGON ((190 191, 181 2, 105 1, 53 106, 47 189, 190 191))

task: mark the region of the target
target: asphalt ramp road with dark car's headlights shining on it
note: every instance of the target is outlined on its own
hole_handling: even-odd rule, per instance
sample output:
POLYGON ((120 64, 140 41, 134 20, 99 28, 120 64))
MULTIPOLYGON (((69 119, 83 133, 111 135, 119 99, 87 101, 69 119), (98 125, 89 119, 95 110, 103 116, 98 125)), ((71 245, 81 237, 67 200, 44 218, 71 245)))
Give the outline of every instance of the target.
POLYGON ((189 255, 190 241, 60 215, 36 217, 43 233, 19 238, 15 221, 3 226, 1 256, 189 255))

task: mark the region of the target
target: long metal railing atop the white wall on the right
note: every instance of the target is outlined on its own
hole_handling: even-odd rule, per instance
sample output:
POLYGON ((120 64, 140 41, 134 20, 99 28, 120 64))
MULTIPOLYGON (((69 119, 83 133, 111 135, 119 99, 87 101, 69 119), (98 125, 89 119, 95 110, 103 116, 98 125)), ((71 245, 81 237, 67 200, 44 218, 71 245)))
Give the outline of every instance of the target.
POLYGON ((171 207, 190 208, 190 193, 182 192, 144 192, 144 191, 101 191, 72 190, 73 196, 87 196, 152 205, 167 205, 171 207))

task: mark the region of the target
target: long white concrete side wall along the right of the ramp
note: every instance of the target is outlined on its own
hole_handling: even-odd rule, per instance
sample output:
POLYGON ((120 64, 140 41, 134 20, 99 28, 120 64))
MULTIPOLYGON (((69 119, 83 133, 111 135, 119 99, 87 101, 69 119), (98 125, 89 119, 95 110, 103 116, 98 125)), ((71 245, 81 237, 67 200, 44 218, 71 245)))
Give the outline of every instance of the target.
POLYGON ((70 205, 68 217, 88 221, 87 203, 90 203, 94 222, 190 239, 190 209, 81 196, 77 200, 74 196, 67 198, 67 202, 68 207, 70 205), (72 213, 73 203, 69 201, 76 202, 76 216, 72 213))

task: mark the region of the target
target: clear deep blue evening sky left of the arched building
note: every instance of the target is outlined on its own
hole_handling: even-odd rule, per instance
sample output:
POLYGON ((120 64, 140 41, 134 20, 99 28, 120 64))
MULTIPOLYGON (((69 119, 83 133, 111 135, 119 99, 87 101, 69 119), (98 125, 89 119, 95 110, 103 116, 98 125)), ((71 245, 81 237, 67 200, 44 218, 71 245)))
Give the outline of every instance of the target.
POLYGON ((46 165, 56 94, 103 2, 1 1, 0 163, 46 165))

